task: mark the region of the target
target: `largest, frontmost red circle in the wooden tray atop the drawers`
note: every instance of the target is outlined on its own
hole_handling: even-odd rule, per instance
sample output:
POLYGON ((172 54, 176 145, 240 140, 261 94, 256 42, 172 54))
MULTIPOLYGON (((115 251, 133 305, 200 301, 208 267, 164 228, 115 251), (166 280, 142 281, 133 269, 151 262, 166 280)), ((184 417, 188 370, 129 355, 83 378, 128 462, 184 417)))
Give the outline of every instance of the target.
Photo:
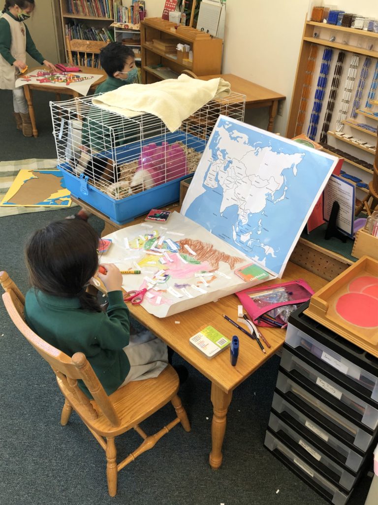
POLYGON ((343 294, 336 302, 336 312, 355 326, 362 328, 378 326, 378 298, 369 294, 343 294))

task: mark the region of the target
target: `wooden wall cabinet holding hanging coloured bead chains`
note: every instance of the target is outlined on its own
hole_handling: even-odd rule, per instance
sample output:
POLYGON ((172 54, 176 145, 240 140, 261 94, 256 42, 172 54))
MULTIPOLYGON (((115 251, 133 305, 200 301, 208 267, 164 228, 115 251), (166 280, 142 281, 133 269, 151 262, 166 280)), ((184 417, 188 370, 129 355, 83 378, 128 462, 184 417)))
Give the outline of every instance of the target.
POLYGON ((319 101, 318 109, 314 111, 315 114, 319 114, 319 122, 313 140, 320 141, 330 154, 344 158, 343 170, 349 175, 361 179, 361 182, 357 183, 357 197, 359 198, 364 196, 363 193, 368 192, 366 187, 360 187, 360 185, 366 186, 371 181, 375 155, 378 114, 374 114, 374 112, 378 111, 378 107, 368 99, 368 93, 374 71, 377 68, 377 58, 378 33, 315 21, 305 21, 304 23, 286 136, 292 138, 299 133, 310 136, 307 130, 311 123, 311 114, 315 109, 313 105, 316 97, 323 94, 320 111, 319 101), (321 62, 325 48, 333 49, 333 55, 330 62, 326 63, 326 66, 329 63, 329 72, 326 75, 327 85, 322 88, 318 84, 319 80, 324 78, 324 74, 321 75, 321 62), (339 52, 344 53, 344 59, 339 75, 339 84, 335 86, 334 72, 339 52), (317 56, 315 56, 316 54, 317 56), (357 60, 358 64, 353 79, 349 79, 349 84, 345 87, 347 75, 352 74, 349 74, 352 58, 357 60), (366 58, 370 61, 367 62, 368 68, 363 81, 364 86, 361 87, 361 75, 364 66, 366 69, 366 58), (334 93, 334 107, 325 130, 327 140, 325 141, 323 138, 322 141, 321 132, 324 128, 326 112, 329 111, 331 90, 334 93), (356 114, 354 114, 354 100, 358 94, 360 101, 356 114), (346 100, 349 100, 347 109, 345 96, 347 96, 346 100), (346 115, 341 117, 342 128, 337 129, 337 118, 343 107, 342 102, 346 115))

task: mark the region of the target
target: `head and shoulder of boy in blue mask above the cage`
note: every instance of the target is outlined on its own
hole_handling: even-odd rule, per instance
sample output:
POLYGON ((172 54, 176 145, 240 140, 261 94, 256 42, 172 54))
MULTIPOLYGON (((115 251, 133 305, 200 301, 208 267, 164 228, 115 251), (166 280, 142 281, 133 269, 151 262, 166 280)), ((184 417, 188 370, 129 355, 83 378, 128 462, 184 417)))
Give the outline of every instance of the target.
POLYGON ((138 68, 135 65, 134 51, 131 47, 121 42, 110 42, 101 49, 100 63, 108 77, 97 86, 96 94, 138 82, 138 68))

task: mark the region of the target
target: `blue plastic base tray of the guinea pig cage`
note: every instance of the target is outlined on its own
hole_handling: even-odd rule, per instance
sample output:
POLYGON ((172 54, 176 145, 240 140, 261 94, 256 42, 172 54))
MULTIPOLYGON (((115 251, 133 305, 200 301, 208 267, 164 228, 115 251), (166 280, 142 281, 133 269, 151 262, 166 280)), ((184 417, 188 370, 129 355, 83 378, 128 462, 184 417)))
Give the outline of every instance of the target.
MULTIPOLYGON (((177 133, 175 135, 169 136, 169 142, 188 142, 188 137, 193 137, 193 147, 199 153, 202 153, 205 149, 206 142, 194 137, 188 133, 177 133)), ((151 137, 143 142, 143 145, 148 145, 151 142, 161 144, 165 140, 165 137, 151 137)), ((125 153, 127 153, 127 158, 131 160, 138 160, 141 155, 141 142, 133 142, 128 144, 126 147, 118 147, 115 149, 115 154, 110 151, 103 151, 102 153, 97 153, 96 157, 104 158, 106 160, 113 159, 115 161, 122 160, 125 158, 125 153)), ((121 162, 119 162, 121 163, 121 162)), ((73 196, 85 201, 87 204, 91 205, 102 214, 107 216, 111 221, 116 224, 124 224, 132 219, 146 214, 152 208, 160 208, 165 205, 171 204, 178 201, 180 194, 180 181, 191 177, 193 174, 189 173, 183 177, 179 177, 164 184, 154 186, 150 189, 142 191, 140 193, 131 194, 126 198, 115 199, 109 194, 97 188, 95 185, 91 184, 87 176, 83 174, 78 177, 73 173, 72 167, 69 163, 62 163, 57 166, 61 170, 67 189, 69 189, 73 196)))

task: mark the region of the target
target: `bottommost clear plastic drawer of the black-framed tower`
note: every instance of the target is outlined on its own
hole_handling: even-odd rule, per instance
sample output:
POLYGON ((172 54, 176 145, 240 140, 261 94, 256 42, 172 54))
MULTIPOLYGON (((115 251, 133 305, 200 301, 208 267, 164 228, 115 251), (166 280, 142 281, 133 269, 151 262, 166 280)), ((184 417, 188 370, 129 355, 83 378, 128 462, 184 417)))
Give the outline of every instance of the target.
POLYGON ((334 505, 344 505, 347 502, 350 493, 342 492, 337 486, 325 479, 317 470, 305 463, 303 459, 299 458, 270 431, 267 431, 265 435, 264 444, 272 451, 272 454, 276 458, 282 461, 290 470, 328 501, 334 505))

